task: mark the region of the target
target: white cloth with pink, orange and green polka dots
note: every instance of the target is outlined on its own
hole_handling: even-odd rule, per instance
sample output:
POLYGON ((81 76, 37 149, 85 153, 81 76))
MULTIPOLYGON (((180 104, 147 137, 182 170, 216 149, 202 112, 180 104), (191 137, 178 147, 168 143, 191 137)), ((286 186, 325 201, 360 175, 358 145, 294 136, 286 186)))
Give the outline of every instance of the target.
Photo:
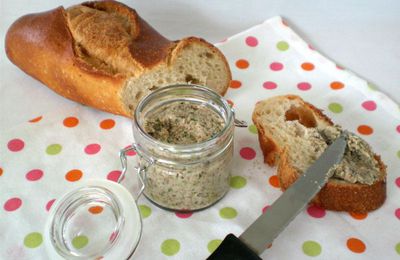
MULTIPOLYGON (((365 138, 388 166, 385 204, 369 214, 302 212, 265 259, 400 258, 400 111, 376 87, 323 57, 280 17, 219 43, 233 72, 227 99, 251 122, 257 101, 297 94, 365 138)), ((24 75, 21 74, 21 77, 24 75)), ((143 235, 138 259, 204 259, 226 234, 240 235, 279 197, 274 168, 262 161, 257 129, 236 129, 231 190, 196 213, 162 210, 139 199, 143 235)), ((77 105, 37 115, 0 136, 0 258, 46 259, 44 223, 52 204, 86 179, 116 181, 118 151, 133 142, 126 118, 77 105)), ((132 166, 135 153, 129 154, 132 166)), ((135 182, 132 172, 127 180, 135 182)), ((129 183, 129 182, 127 182, 129 183)), ((125 184, 134 192, 134 184, 125 184)), ((98 211, 92 212, 98 214, 98 211)), ((73 245, 83 248, 82 234, 73 245)))

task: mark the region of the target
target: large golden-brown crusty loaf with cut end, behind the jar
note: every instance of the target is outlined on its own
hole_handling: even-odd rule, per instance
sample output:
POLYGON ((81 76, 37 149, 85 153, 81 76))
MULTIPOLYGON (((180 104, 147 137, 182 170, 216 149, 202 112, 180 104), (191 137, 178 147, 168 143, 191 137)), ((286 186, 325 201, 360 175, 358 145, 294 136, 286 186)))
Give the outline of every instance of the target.
POLYGON ((115 1, 23 16, 5 44, 15 65, 58 94, 124 116, 162 86, 202 84, 223 95, 231 80, 213 45, 196 37, 170 41, 115 1))

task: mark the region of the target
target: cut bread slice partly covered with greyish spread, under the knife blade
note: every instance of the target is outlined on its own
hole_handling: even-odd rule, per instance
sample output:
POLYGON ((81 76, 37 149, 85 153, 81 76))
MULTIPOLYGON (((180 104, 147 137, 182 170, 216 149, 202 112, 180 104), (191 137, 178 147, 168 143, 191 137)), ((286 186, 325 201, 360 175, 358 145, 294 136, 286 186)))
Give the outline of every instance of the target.
MULTIPOLYGON (((257 103, 253 122, 258 130, 264 161, 277 165, 286 190, 336 139, 342 128, 313 105, 294 95, 257 103)), ((366 213, 386 199, 386 166, 359 136, 350 133, 342 162, 312 200, 321 208, 366 213)))

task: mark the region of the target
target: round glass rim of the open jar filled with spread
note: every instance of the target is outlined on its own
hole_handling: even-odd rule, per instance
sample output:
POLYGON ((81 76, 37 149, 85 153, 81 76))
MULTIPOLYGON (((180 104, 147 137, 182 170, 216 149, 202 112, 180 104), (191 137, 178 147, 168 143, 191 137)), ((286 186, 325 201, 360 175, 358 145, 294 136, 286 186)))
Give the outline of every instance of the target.
POLYGON ((156 144, 160 149, 163 150, 168 150, 168 151, 173 151, 173 152, 180 152, 180 153, 192 153, 193 151, 196 150, 202 150, 206 147, 213 146, 214 144, 217 143, 219 138, 224 136, 226 132, 229 131, 229 129, 233 126, 233 121, 234 121, 234 111, 228 104, 228 102, 218 93, 213 91, 212 89, 206 87, 206 86, 201 86, 201 85, 196 85, 196 84, 174 84, 174 85, 169 85, 166 87, 162 87, 160 89, 157 89, 153 91, 152 93, 148 94, 145 96, 138 104, 136 107, 136 110, 134 112, 134 126, 137 127, 139 130, 139 133, 148 141, 156 144), (170 144, 170 143, 165 143, 161 142, 160 140, 155 139, 151 135, 149 135, 142 127, 142 125, 139 123, 139 117, 140 113, 143 110, 143 108, 146 107, 146 105, 153 99, 160 97, 161 95, 172 92, 172 91, 181 91, 183 90, 187 91, 198 91, 198 92, 203 92, 206 95, 208 95, 211 99, 217 100, 221 102, 222 108, 226 112, 226 122, 224 125, 224 128, 215 136, 213 136, 211 139, 208 139, 204 142, 200 143, 191 143, 191 144, 170 144))

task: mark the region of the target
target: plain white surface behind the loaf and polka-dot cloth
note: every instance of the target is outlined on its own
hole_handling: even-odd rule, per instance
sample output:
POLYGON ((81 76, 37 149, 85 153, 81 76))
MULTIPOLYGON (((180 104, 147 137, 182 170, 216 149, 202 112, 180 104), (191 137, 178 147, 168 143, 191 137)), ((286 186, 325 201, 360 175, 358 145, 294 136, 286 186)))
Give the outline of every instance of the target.
MULTIPOLYGON (((1 0, 0 124, 8 128, 60 105, 74 106, 12 65, 4 51, 8 27, 18 17, 79 3, 79 0, 1 0), (30 94, 42 100, 30 100, 30 94)), ((400 102, 400 1, 123 1, 170 39, 189 35, 218 42, 275 15, 304 40, 376 84, 400 102)))

